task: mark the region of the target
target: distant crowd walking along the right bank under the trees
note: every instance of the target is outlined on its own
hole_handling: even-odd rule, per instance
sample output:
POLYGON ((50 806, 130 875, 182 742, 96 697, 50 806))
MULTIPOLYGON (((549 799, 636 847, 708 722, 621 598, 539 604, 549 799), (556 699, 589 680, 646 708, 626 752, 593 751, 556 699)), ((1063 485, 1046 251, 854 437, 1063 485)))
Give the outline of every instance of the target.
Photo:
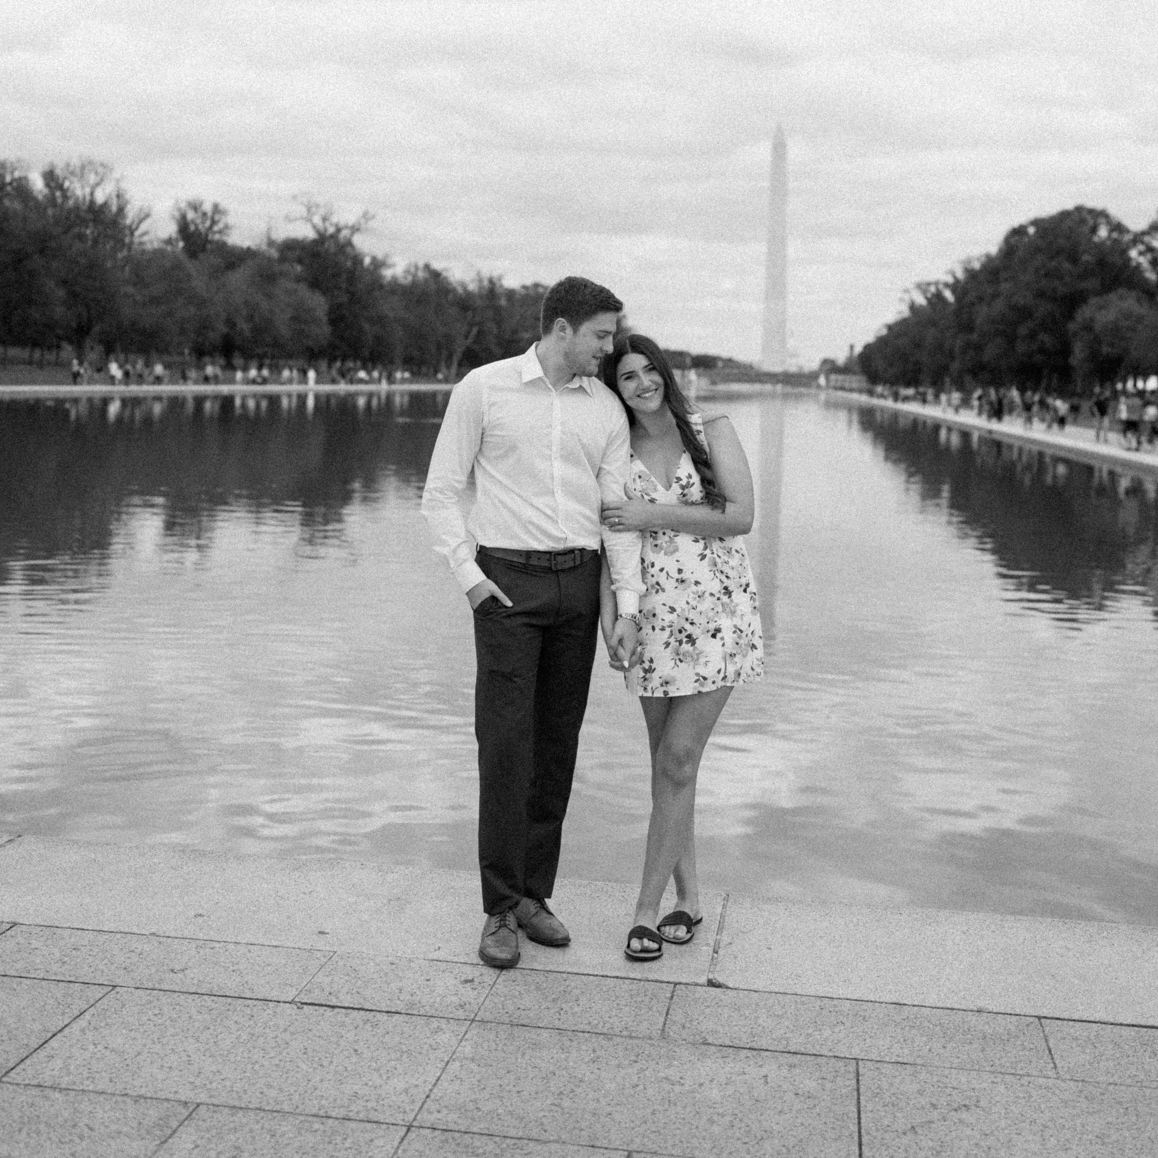
POLYGON ((1153 450, 1158 445, 1158 374, 1130 378, 1113 388, 1099 386, 1084 398, 1068 397, 1049 390, 976 387, 972 393, 953 388, 936 390, 933 387, 877 387, 878 397, 893 402, 939 404, 943 410, 959 413, 968 408, 979 418, 1003 423, 1018 419, 1027 430, 1041 423, 1047 431, 1064 431, 1067 424, 1087 416, 1094 441, 1108 442, 1115 428, 1124 447, 1131 450, 1153 450))

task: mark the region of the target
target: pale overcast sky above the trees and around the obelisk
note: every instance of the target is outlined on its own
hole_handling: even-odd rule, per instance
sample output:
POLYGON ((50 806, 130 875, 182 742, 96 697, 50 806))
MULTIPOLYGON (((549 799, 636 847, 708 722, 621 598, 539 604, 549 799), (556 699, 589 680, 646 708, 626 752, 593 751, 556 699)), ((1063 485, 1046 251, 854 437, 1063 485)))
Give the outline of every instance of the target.
POLYGON ((295 198, 367 248, 584 273, 664 344, 756 358, 769 141, 794 359, 1078 203, 1158 212, 1158 0, 3 0, 0 155, 110 162, 154 228, 295 198))

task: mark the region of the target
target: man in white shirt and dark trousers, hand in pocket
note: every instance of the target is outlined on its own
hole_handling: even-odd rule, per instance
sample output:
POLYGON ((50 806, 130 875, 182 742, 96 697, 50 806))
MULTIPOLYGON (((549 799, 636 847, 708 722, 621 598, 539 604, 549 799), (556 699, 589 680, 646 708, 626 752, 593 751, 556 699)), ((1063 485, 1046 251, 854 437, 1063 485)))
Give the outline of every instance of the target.
POLYGON ((586 278, 552 286, 540 340, 455 387, 423 494, 475 620, 478 955, 500 969, 519 963, 519 929, 543 945, 571 940, 547 900, 595 658, 600 542, 620 615, 609 646, 629 662, 637 645, 640 538, 600 526, 629 472, 626 416, 595 378, 622 309, 586 278), (471 471, 468 533, 459 498, 471 471))

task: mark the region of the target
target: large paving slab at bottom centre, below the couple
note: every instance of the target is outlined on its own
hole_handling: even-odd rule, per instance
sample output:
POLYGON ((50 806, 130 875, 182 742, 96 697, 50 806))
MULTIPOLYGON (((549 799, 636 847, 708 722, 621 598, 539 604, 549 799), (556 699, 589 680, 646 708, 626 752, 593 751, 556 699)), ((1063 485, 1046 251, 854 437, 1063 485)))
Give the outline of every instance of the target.
POLYGON ((476 1021, 416 1124, 691 1158, 856 1158, 855 1063, 476 1021))

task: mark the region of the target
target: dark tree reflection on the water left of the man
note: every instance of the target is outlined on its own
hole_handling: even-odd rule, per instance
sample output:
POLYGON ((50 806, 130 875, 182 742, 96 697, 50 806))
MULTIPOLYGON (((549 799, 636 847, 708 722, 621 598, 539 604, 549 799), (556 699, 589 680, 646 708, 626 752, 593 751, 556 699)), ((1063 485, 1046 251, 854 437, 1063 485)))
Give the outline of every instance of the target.
POLYGON ((445 393, 214 402, 0 405, 0 584, 58 560, 102 569, 129 500, 149 497, 176 545, 207 550, 223 512, 295 512, 305 543, 360 497, 422 488, 445 393))

